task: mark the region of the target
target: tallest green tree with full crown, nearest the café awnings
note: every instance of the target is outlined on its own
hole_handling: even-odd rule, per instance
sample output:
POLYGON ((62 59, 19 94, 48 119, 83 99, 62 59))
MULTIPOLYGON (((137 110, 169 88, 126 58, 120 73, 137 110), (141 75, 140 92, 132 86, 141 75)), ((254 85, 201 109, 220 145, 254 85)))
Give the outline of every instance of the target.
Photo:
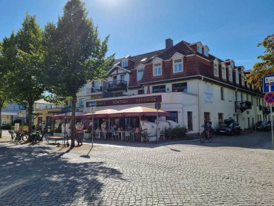
POLYGON ((45 74, 49 74, 45 80, 49 91, 71 98, 71 148, 75 146, 76 94, 88 80, 101 76, 113 64, 114 55, 105 57, 107 43, 108 37, 101 42, 97 27, 79 0, 68 1, 58 24, 45 27, 45 74))

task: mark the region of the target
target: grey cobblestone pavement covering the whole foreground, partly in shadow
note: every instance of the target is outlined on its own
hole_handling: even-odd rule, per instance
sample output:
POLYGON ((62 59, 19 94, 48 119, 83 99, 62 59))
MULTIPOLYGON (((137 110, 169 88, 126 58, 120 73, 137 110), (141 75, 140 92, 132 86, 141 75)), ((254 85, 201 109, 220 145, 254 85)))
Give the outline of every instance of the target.
POLYGON ((273 150, 0 140, 0 205, 274 205, 273 150))

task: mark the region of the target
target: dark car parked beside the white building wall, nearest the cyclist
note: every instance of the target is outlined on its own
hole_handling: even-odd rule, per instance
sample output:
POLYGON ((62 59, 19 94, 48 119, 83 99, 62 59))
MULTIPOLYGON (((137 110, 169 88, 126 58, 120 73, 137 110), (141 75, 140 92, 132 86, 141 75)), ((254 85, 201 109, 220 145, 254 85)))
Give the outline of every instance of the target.
POLYGON ((234 119, 225 119, 216 131, 218 134, 240 134, 240 126, 234 121, 234 119))

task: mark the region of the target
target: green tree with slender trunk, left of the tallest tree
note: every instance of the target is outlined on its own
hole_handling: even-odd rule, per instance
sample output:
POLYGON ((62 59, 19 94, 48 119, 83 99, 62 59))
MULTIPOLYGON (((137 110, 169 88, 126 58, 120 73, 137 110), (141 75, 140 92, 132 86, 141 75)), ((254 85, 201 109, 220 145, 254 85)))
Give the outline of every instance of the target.
POLYGON ((44 63, 42 30, 36 23, 36 16, 27 13, 14 36, 4 45, 5 65, 11 73, 10 90, 12 100, 18 104, 27 103, 29 132, 32 130, 34 102, 43 98, 45 91, 40 83, 44 63))

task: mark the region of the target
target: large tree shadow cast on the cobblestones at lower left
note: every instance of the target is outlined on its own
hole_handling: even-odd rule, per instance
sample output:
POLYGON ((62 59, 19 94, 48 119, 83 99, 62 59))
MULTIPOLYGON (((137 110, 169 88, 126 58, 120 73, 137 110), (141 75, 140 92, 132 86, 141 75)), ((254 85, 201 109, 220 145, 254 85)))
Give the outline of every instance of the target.
POLYGON ((43 147, 1 146, 0 205, 92 205, 98 200, 103 183, 98 176, 119 178, 121 172, 104 162, 77 163, 64 152, 43 147))

